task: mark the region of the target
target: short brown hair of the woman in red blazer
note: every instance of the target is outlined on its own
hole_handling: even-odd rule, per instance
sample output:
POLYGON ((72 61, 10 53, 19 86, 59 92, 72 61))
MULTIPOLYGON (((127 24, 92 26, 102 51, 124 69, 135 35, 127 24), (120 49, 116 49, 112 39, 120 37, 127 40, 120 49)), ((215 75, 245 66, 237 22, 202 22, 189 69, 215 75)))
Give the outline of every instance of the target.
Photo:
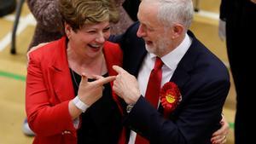
POLYGON ((73 31, 84 24, 108 20, 115 23, 119 20, 114 0, 59 0, 59 10, 63 22, 67 22, 73 31))

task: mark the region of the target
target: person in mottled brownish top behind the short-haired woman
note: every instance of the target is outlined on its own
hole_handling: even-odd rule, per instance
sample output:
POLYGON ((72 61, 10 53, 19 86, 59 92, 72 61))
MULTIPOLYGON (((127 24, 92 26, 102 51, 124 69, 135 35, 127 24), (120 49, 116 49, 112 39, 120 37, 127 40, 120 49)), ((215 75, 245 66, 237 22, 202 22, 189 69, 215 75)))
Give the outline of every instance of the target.
MULTIPOLYGON (((130 0, 125 1, 125 8, 131 8, 130 0)), ((137 0, 138 1, 138 0, 137 0)), ((61 32, 62 21, 61 14, 57 7, 58 0, 26 0, 28 8, 32 12, 33 16, 37 20, 37 26, 35 28, 34 35, 32 37, 32 43, 29 46, 29 49, 33 46, 38 45, 39 43, 50 42, 56 39, 59 39, 63 36, 61 32)), ((122 4, 124 0, 114 0, 112 3, 115 3, 115 6, 119 10, 119 22, 111 24, 111 33, 120 34, 125 32, 128 26, 131 26, 133 20, 129 14, 134 15, 132 10, 129 11, 129 14, 125 11, 122 4)), ((133 2, 132 2, 133 3, 133 2)), ((136 3, 138 4, 138 3, 136 3)), ((137 14, 137 9, 134 10, 137 14)))

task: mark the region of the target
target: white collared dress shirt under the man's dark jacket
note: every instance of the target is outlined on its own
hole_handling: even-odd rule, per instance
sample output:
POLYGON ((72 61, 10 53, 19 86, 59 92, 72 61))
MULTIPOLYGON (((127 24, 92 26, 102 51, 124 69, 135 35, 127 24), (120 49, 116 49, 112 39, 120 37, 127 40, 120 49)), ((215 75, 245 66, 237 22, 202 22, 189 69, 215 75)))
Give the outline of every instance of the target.
MULTIPOLYGON (((170 79, 172 78, 172 74, 177 67, 177 64, 183 58, 183 55, 185 55, 190 45, 191 40, 189 39, 189 35, 186 34, 185 38, 183 39, 183 42, 180 43, 180 45, 176 49, 173 49, 172 52, 160 58, 164 63, 164 65, 162 66, 161 87, 170 81, 170 79)), ((146 94, 148 78, 150 72, 154 68, 155 58, 156 55, 148 53, 143 60, 143 64, 137 76, 139 89, 143 96, 146 94)), ((137 133, 131 130, 130 140, 128 144, 135 143, 136 135, 137 133)))

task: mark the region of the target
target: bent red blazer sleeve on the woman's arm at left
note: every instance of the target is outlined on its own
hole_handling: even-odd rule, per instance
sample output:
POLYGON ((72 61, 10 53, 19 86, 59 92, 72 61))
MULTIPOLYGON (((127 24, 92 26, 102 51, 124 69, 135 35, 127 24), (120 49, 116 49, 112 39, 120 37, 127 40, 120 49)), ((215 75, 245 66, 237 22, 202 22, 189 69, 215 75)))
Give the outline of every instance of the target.
MULTIPOLYGON (((34 51, 33 51, 34 52, 34 51)), ((68 102, 53 105, 45 71, 38 57, 29 54, 26 76, 26 114, 31 129, 42 136, 61 134, 65 130, 75 131, 68 111, 68 102)))

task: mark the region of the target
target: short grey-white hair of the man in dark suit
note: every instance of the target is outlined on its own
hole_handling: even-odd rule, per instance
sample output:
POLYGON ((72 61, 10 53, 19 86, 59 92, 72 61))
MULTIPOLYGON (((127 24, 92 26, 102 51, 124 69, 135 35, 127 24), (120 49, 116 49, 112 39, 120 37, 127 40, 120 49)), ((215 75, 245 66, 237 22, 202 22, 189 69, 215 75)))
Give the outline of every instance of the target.
POLYGON ((160 9, 157 16, 160 22, 165 26, 178 23, 189 29, 194 14, 192 0, 158 0, 158 2, 160 9))

